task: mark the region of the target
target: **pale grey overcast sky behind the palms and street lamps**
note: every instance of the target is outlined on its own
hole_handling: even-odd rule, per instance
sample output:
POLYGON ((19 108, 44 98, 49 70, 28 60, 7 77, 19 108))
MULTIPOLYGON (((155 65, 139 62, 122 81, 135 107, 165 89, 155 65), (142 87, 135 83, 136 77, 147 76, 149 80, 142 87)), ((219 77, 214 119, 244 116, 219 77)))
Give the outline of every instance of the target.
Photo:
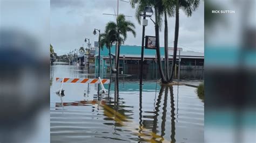
MULTIPOLYGON (((94 28, 104 32, 107 22, 114 21, 117 12, 117 0, 51 0, 51 44, 58 55, 66 54, 85 44, 84 39, 89 38, 92 46, 98 40, 98 34, 93 35, 94 28)), ((119 13, 132 16, 126 17, 136 25, 137 36, 129 34, 125 45, 141 45, 142 25, 139 25, 134 17, 135 9, 129 3, 119 2, 119 13)), ((154 17, 153 17, 154 19, 154 17)), ((173 47, 175 18, 168 20, 169 47, 173 47)), ((154 35, 154 25, 149 20, 145 35, 154 35)), ((164 26, 160 31, 160 46, 164 45, 164 26)), ((84 46, 85 47, 85 46, 84 46)), ((180 27, 178 47, 184 51, 204 52, 204 2, 201 1, 199 8, 186 17, 180 10, 180 27)))

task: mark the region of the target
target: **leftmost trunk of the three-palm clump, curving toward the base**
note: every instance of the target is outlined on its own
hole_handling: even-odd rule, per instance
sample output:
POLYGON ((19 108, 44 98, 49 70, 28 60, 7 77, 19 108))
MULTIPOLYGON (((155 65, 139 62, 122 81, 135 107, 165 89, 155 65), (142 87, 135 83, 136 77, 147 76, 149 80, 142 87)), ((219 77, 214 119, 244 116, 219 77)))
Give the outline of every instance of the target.
POLYGON ((159 22, 158 22, 158 8, 154 6, 155 9, 155 18, 156 18, 156 25, 155 25, 155 32, 156 32, 156 49, 157 49, 157 63, 158 63, 158 69, 160 71, 161 76, 161 82, 166 83, 166 78, 164 75, 164 71, 161 65, 161 57, 160 57, 160 44, 159 44, 159 22))

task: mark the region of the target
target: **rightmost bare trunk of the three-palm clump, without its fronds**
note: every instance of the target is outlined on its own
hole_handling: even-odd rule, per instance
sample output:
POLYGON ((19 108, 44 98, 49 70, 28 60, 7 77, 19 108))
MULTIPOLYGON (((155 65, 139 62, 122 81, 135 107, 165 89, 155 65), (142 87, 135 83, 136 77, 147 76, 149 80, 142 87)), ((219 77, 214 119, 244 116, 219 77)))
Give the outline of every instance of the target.
POLYGON ((179 0, 176 0, 176 21, 175 21, 175 32, 174 32, 171 81, 172 81, 172 77, 173 77, 173 71, 174 71, 175 65, 176 65, 178 38, 179 38, 179 0))

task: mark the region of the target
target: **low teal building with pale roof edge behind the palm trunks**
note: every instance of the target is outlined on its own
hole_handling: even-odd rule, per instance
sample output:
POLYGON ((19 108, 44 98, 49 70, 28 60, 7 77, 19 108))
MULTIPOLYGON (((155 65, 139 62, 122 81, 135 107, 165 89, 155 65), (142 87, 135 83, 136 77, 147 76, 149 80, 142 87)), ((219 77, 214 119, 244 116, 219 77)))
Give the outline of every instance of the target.
MULTIPOLYGON (((97 48, 98 49, 98 48, 97 48)), ((169 67, 172 64, 173 51, 169 48, 169 67)), ((141 56, 141 46, 120 46, 120 58, 119 58, 119 72, 124 74, 136 74, 138 73, 141 56)), ((182 50, 182 49, 181 49, 182 50)), ((164 47, 160 47, 161 63, 164 69, 164 47)), ((98 50, 95 54, 95 68, 98 70, 98 50)), ((111 47, 111 62, 114 65, 114 58, 116 56, 116 45, 111 47)), ((177 52, 177 66, 179 62, 179 51, 177 52)), ((154 70, 158 68, 156 63, 156 50, 155 49, 144 49, 144 66, 143 70, 154 70)), ((192 52, 192 51, 181 51, 180 52, 180 69, 204 69, 204 53, 192 52)), ((109 49, 106 46, 100 49, 100 71, 103 73, 110 73, 110 58, 109 49), (103 69, 103 70, 102 70, 103 69)), ((97 71, 96 71, 97 72, 97 71)))

